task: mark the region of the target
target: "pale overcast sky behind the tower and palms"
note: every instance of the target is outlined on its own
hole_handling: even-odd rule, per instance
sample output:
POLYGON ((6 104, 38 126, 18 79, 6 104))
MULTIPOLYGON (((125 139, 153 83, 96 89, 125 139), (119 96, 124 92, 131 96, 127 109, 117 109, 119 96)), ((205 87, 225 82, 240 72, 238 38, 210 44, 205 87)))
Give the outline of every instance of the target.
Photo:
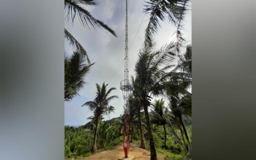
MULTIPOLYGON (((120 90, 120 81, 125 78, 124 58, 125 58, 125 0, 98 0, 98 6, 85 6, 91 14, 101 20, 112 30, 117 33, 117 38, 107 30, 96 30, 84 28, 80 25, 78 19, 74 24, 65 20, 65 28, 80 42, 88 52, 91 63, 89 74, 85 80, 87 84, 84 89, 80 90, 78 96, 70 102, 65 102, 65 125, 81 126, 88 122, 87 118, 93 113, 88 110, 88 106, 83 106, 85 102, 94 100, 96 93, 96 83, 102 86, 102 83, 109 84, 107 89, 115 87, 117 90, 112 91, 112 95, 118 95, 109 105, 115 107, 115 113, 110 114, 110 119, 123 114, 123 96, 120 90)), ((144 14, 144 0, 128 0, 128 58, 129 58, 129 79, 134 75, 134 66, 138 59, 139 49, 144 42, 144 30, 149 22, 149 15, 144 14)), ((191 11, 186 15, 184 20, 184 36, 191 44, 191 11)), ((171 40, 171 35, 176 29, 168 20, 161 22, 155 41, 155 49, 167 44, 171 40)), ((65 40, 65 52, 73 53, 72 47, 65 40)), ((104 116, 107 120, 108 117, 104 116)))

